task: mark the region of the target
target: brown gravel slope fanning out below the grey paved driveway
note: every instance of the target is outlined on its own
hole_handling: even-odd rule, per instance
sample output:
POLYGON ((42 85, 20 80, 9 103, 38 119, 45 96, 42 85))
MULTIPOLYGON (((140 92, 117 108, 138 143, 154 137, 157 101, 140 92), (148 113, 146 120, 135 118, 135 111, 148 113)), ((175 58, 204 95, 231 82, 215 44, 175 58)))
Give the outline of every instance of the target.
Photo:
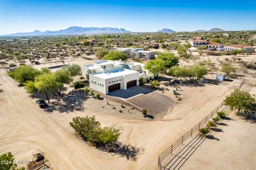
POLYGON ((148 114, 154 116, 154 118, 161 118, 164 113, 175 105, 171 98, 154 91, 132 97, 127 99, 127 101, 142 109, 146 109, 148 114))

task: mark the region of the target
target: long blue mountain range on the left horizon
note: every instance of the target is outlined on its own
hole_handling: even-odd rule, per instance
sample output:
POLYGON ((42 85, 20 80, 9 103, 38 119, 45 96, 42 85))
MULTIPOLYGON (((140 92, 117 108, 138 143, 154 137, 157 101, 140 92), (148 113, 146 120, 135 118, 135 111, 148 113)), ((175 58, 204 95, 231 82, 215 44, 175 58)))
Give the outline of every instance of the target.
POLYGON ((19 33, 11 33, 9 35, 1 35, 1 36, 55 36, 55 35, 82 35, 82 34, 106 34, 106 33, 129 33, 123 28, 96 28, 96 27, 69 27, 64 30, 59 31, 38 31, 34 32, 19 32, 19 33))

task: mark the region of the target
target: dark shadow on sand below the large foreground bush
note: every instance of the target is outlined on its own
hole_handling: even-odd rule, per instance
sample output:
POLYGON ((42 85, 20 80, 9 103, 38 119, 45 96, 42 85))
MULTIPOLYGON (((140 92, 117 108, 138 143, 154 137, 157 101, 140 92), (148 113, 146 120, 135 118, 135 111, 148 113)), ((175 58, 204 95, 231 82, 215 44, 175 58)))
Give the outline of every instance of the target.
POLYGON ((125 157, 127 160, 137 160, 138 155, 142 153, 145 149, 144 148, 137 148, 131 145, 125 145, 122 142, 117 142, 113 146, 106 145, 102 147, 97 147, 101 151, 111 152, 116 155, 120 155, 125 157))

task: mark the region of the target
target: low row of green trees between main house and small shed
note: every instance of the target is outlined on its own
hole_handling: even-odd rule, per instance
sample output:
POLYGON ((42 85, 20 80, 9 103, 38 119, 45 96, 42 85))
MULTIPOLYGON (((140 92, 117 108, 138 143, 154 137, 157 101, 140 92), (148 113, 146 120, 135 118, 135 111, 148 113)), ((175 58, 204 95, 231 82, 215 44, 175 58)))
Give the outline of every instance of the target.
POLYGON ((194 64, 191 67, 176 65, 170 68, 169 74, 174 78, 174 80, 178 80, 183 77, 200 79, 207 74, 207 68, 199 64, 194 64))

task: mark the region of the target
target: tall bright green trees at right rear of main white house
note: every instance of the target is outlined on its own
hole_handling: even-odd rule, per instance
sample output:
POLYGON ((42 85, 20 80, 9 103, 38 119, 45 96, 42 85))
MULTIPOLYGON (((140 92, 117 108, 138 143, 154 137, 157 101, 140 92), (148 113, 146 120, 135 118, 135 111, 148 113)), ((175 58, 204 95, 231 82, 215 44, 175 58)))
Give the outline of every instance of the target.
POLYGON ((158 57, 155 60, 150 60, 144 66, 149 73, 154 74, 155 77, 158 77, 158 73, 167 71, 174 65, 178 65, 179 58, 176 57, 173 53, 159 53, 158 57))

